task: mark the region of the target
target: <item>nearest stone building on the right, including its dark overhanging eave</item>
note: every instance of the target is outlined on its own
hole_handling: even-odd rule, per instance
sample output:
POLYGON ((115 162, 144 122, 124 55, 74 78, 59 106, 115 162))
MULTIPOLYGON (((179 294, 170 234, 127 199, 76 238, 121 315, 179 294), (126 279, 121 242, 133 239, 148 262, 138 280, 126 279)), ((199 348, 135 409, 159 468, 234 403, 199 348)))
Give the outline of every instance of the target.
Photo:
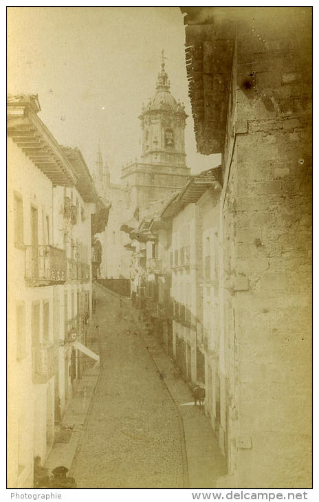
POLYGON ((306 488, 311 9, 181 10, 197 146, 223 153, 217 383, 229 474, 219 486, 306 488))

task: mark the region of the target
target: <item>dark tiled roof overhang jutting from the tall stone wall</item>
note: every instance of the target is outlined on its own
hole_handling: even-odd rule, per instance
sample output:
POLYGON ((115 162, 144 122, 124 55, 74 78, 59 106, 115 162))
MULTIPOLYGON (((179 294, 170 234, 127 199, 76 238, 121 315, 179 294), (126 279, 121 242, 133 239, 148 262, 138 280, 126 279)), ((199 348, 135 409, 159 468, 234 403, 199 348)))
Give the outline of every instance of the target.
POLYGON ((229 8, 181 7, 186 12, 186 72, 197 151, 222 153, 234 52, 229 8))

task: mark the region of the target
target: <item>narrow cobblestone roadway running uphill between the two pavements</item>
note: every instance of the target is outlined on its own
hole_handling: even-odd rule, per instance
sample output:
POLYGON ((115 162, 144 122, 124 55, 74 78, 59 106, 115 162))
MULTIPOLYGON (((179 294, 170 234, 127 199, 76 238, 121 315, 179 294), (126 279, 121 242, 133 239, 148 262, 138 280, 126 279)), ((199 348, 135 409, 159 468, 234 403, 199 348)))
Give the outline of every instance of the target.
POLYGON ((130 314, 97 288, 95 320, 102 368, 72 469, 78 488, 184 488, 179 415, 130 314))

